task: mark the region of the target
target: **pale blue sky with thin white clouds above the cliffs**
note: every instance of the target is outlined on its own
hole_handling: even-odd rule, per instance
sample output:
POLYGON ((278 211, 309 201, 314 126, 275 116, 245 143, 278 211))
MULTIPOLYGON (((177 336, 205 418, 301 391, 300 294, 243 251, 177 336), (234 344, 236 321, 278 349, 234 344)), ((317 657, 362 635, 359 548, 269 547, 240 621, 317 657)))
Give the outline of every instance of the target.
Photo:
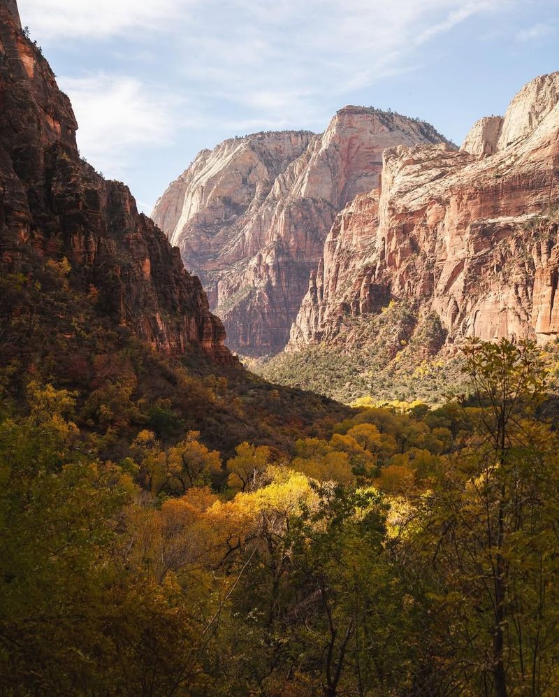
POLYGON ((203 148, 324 131, 346 104, 460 144, 559 69, 559 0, 19 0, 78 147, 150 213, 203 148))

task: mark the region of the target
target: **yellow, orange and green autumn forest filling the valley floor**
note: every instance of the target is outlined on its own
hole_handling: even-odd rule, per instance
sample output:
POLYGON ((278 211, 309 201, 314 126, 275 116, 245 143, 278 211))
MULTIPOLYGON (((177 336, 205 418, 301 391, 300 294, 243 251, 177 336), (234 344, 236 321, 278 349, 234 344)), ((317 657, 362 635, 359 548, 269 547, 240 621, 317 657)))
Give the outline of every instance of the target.
POLYGON ((3 373, 3 694, 558 694, 534 345, 471 343, 461 402, 319 412, 226 452, 164 402, 133 434, 126 375, 18 401, 3 373))

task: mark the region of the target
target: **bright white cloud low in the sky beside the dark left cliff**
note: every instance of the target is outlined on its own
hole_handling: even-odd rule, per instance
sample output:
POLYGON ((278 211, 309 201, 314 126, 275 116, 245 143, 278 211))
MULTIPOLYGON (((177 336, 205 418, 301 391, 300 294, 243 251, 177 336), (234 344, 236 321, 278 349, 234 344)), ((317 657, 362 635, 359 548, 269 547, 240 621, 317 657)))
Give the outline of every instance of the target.
POLYGON ((137 148, 173 141, 176 99, 137 78, 97 73, 59 78, 59 85, 70 96, 80 124, 80 151, 112 178, 122 176, 137 148))

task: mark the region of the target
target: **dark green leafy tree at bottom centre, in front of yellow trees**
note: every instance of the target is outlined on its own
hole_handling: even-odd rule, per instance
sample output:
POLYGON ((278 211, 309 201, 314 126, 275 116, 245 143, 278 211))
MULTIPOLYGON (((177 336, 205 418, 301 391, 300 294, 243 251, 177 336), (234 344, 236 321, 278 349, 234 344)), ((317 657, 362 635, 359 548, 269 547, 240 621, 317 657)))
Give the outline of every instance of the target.
POLYGON ((321 487, 319 496, 293 526, 301 598, 287 631, 325 696, 395 694, 410 670, 411 617, 386 540, 388 508, 374 490, 321 487))

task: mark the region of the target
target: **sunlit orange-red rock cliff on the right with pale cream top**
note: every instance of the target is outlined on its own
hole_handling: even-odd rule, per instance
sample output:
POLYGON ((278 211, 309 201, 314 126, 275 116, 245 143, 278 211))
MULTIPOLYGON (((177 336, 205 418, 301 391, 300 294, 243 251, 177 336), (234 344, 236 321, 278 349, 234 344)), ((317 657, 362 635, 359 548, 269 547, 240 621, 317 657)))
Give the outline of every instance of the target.
POLYGON ((559 73, 528 83, 460 152, 384 152, 379 194, 337 217, 291 330, 290 350, 351 347, 391 299, 435 313, 447 343, 559 335, 559 73), (493 154, 491 154, 493 153, 493 154))

